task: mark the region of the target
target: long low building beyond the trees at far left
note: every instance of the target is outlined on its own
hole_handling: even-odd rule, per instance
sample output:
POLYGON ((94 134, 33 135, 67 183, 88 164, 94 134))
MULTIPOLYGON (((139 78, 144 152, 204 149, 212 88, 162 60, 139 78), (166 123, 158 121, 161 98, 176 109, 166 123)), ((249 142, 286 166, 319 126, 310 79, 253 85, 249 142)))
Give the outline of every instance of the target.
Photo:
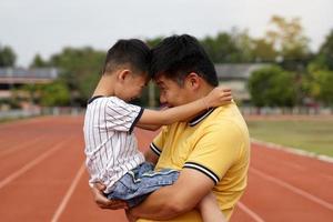
POLYGON ((23 84, 46 84, 56 80, 58 75, 59 70, 56 68, 0 68, 0 99, 11 98, 11 89, 23 84))

